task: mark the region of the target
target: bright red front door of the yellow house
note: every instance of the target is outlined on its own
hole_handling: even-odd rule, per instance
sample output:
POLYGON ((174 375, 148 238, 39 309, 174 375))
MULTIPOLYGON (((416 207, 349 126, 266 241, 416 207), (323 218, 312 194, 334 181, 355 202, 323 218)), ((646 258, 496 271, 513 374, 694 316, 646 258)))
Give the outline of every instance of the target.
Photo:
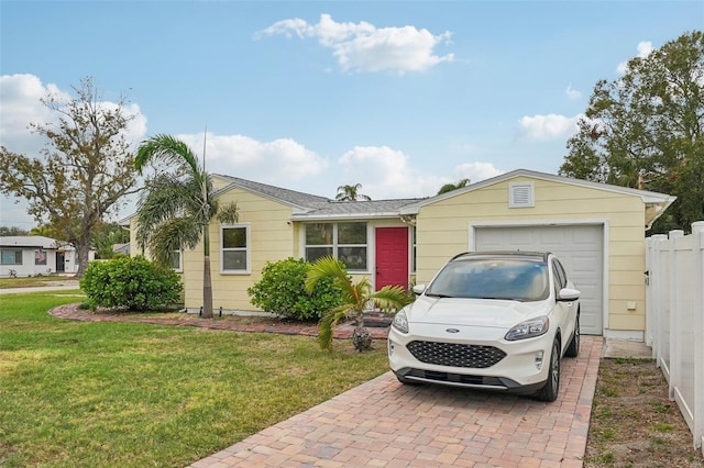
POLYGON ((376 229, 376 290, 408 288, 408 227, 376 229))

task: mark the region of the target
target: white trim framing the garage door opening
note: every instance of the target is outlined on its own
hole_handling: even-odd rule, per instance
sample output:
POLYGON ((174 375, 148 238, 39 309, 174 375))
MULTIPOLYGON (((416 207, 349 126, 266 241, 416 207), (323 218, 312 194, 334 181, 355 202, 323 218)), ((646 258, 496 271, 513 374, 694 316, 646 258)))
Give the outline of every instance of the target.
MULTIPOLYGON (((608 330, 608 220, 535 220, 535 221, 479 221, 469 223, 468 249, 476 250, 477 227, 531 227, 531 226, 602 226, 602 334, 608 330)), ((641 332, 642 334, 642 332, 641 332)), ((642 338, 641 338, 642 341, 642 338)))

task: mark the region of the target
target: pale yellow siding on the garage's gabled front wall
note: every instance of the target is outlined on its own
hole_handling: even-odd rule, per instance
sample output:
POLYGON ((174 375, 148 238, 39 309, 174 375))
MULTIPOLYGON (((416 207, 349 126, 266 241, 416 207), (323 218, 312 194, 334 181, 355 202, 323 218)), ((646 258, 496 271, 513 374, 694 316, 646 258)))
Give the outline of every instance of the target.
POLYGON ((422 207, 417 215, 417 282, 427 283, 450 257, 468 250, 470 223, 536 221, 605 221, 608 327, 645 330, 645 204, 636 196, 518 177, 422 207), (535 207, 508 208, 512 182, 534 182, 535 207), (628 302, 636 302, 635 311, 627 310, 628 302))

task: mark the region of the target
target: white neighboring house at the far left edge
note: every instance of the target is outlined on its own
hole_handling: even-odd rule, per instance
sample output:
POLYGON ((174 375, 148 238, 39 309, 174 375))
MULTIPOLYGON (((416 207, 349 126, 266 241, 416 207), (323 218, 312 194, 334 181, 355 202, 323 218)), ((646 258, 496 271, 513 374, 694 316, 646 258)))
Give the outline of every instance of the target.
MULTIPOLYGON (((90 259, 95 257, 91 250, 90 259)), ((75 274, 76 249, 66 243, 38 235, 0 236, 0 277, 75 274)))

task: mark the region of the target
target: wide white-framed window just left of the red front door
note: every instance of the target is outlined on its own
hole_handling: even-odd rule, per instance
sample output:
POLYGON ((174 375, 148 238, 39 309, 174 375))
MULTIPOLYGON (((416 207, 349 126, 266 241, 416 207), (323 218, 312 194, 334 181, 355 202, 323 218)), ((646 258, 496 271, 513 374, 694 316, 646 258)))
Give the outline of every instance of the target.
POLYGON ((306 224, 306 260, 326 255, 341 260, 350 271, 366 271, 366 223, 306 224))

